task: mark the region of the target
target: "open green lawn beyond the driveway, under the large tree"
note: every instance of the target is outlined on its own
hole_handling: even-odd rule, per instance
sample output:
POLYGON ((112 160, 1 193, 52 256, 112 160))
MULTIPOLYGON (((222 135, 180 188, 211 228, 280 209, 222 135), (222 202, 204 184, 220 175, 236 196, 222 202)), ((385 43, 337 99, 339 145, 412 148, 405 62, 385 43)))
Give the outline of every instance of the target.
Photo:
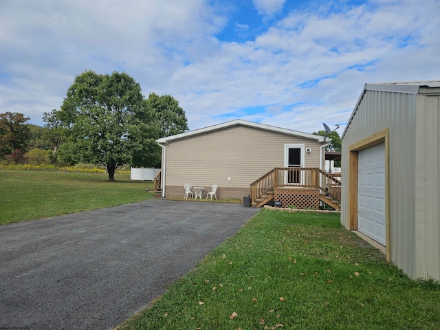
POLYGON ((0 224, 107 208, 153 198, 151 181, 131 181, 130 174, 0 170, 0 224))

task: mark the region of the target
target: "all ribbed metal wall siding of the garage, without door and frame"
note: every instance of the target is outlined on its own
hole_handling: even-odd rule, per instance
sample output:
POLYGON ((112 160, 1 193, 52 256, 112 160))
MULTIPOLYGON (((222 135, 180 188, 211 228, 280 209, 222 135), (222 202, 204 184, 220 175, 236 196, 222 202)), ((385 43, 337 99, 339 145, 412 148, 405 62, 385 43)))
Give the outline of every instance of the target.
POLYGON ((423 263, 440 279, 439 122, 439 96, 366 89, 342 136, 349 170, 342 171, 341 222, 349 228, 349 146, 388 129, 387 245, 391 262, 412 278, 427 277, 423 263))

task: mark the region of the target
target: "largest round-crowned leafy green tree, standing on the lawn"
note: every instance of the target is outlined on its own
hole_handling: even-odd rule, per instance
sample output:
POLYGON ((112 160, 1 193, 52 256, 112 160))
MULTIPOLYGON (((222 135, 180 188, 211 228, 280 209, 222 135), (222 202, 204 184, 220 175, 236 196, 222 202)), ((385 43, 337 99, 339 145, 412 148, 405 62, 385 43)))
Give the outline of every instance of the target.
POLYGON ((83 72, 61 110, 48 116, 61 126, 58 157, 70 164, 102 164, 114 181, 115 171, 142 150, 141 132, 154 131, 141 120, 146 111, 140 85, 128 74, 83 72))

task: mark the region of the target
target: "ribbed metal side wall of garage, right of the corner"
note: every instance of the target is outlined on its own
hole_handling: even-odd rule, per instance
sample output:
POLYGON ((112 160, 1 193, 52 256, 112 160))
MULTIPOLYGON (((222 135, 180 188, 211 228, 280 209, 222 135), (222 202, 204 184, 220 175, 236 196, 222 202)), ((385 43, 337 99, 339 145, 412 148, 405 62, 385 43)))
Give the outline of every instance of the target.
POLYGON ((416 277, 440 281, 440 96, 417 96, 416 277))

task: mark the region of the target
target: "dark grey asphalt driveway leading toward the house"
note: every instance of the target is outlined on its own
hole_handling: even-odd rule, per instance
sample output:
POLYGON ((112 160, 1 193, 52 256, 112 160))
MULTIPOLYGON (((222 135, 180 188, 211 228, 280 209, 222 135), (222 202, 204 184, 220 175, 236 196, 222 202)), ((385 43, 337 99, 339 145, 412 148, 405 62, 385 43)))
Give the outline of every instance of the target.
POLYGON ((148 200, 0 226, 0 329, 109 329, 259 212, 148 200))

